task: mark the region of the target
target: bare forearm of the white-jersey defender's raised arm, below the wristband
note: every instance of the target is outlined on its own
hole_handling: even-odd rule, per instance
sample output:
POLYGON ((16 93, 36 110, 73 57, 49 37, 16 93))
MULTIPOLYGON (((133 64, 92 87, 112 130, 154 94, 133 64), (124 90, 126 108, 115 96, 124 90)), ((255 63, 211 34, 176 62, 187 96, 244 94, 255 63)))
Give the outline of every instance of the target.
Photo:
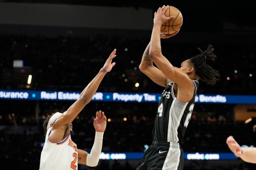
POLYGON ((85 104, 89 103, 93 98, 96 90, 104 78, 104 75, 105 73, 100 70, 95 78, 85 87, 85 89, 80 94, 79 98, 82 99, 85 104))

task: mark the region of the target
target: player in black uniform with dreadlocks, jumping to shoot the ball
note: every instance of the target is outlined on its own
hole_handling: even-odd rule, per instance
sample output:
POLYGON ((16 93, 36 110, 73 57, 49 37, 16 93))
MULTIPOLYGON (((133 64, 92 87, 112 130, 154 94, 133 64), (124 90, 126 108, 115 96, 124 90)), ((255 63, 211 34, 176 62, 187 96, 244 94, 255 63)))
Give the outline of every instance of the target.
POLYGON ((163 86, 155 123, 152 130, 153 142, 145 151, 137 170, 182 170, 183 137, 188 127, 199 88, 199 80, 214 85, 218 71, 206 61, 215 60, 212 45, 206 51, 183 61, 180 68, 174 67, 161 53, 161 38, 174 34, 161 33, 161 25, 175 16, 166 17, 169 6, 154 13, 154 25, 150 43, 146 47, 139 66, 141 72, 156 84, 163 86), (155 63, 156 66, 153 65, 155 63))

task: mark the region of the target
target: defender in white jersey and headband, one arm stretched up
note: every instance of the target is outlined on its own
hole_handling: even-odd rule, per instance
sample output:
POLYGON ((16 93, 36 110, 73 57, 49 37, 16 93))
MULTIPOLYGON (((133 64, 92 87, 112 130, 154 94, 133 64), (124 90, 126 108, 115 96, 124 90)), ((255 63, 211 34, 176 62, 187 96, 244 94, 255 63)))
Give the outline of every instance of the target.
POLYGON ((71 140, 72 121, 93 98, 104 75, 110 72, 115 63, 112 59, 116 50, 110 54, 104 67, 95 78, 85 87, 79 98, 64 113, 53 113, 44 122, 46 133, 45 144, 41 152, 39 170, 77 170, 77 163, 95 167, 98 164, 103 134, 106 129, 106 116, 104 112, 97 111, 94 119, 95 141, 90 154, 77 148, 71 140))

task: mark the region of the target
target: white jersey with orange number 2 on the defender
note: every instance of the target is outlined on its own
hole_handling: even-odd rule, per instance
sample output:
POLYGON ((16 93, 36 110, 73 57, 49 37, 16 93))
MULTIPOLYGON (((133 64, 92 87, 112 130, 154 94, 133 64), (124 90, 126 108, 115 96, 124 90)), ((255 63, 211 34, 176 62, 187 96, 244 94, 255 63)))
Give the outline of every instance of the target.
POLYGON ((41 152, 39 170, 77 170, 77 146, 71 140, 70 133, 59 143, 50 143, 47 130, 45 144, 41 152))

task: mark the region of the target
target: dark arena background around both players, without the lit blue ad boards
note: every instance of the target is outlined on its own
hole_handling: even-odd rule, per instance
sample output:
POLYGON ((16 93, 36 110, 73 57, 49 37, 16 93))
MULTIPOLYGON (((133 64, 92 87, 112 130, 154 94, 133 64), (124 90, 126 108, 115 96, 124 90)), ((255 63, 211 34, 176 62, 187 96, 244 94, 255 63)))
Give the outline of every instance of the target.
MULTIPOLYGON (((184 19, 181 31, 161 42, 162 53, 170 62, 179 67, 182 61, 199 54, 198 47, 205 50, 211 44, 215 48, 217 59, 210 64, 220 72, 220 80, 214 86, 199 81, 199 93, 256 95, 256 12, 252 0, 1 1, 146 8, 152 9, 152 16, 153 11, 163 4, 175 6, 180 9, 184 19)), ((95 29, 0 24, 0 89, 82 91, 116 48, 116 66, 105 76, 98 91, 160 93, 163 88, 138 70, 150 36, 151 28, 103 31, 100 27, 95 29), (25 72, 16 72, 12 67, 13 60, 18 59, 24 61, 25 72), (30 73, 33 79, 28 87, 26 81, 30 73), (135 82, 140 83, 139 88, 134 87, 135 82)), ((0 100, 2 163, 9 164, 10 170, 20 167, 27 170, 39 169, 41 143, 44 142, 43 121, 47 115, 65 111, 71 104, 72 102, 59 101, 0 100), (35 112, 39 112, 39 117, 35 116, 35 112)), ((255 132, 252 130, 255 122, 244 124, 244 121, 236 120, 236 106, 196 105, 185 134, 184 152, 230 152, 226 145, 228 135, 233 135, 238 143, 255 145, 255 132)), ((144 144, 152 143, 157 103, 91 102, 73 122, 75 134, 72 139, 79 148, 90 151, 95 133, 92 122, 95 111, 99 109, 113 119, 108 122, 104 134, 103 152, 143 152, 144 144), (123 117, 127 117, 126 122, 123 117)), ((255 109, 252 111, 255 112, 255 109)), ((96 168, 81 166, 79 169, 130 170, 135 169, 138 163, 139 161, 100 161, 96 168)), ((254 164, 239 159, 185 161, 184 167, 184 170, 254 169, 254 164)))

